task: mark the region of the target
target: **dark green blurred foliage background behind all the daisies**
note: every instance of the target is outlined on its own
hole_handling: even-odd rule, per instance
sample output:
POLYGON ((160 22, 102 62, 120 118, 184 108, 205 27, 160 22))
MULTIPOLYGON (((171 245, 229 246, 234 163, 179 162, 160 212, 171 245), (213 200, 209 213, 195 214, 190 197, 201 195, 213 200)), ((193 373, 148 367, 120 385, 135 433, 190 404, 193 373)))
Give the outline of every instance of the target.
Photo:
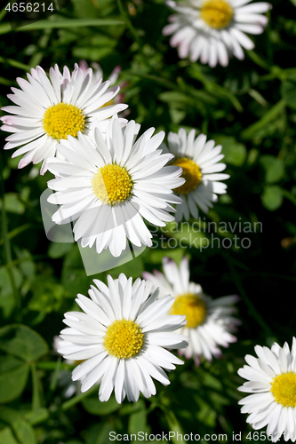
MULTIPOLYGON (((47 20, 14 30, 0 12, 1 107, 9 104, 15 78, 30 67, 72 69, 85 59, 100 63, 104 80, 121 66, 127 118, 140 123, 141 132, 195 128, 222 144, 228 194, 208 215, 201 212, 200 230, 188 226, 180 234, 171 224, 165 234, 155 233, 156 241, 164 237, 162 248, 146 249, 110 274, 137 278, 160 269, 164 256, 180 262, 188 254, 191 280, 212 297, 238 294, 242 320, 237 343, 221 360, 199 368, 186 361, 171 373, 169 387, 156 384, 149 400, 119 406, 113 398, 100 403, 98 387, 80 393, 70 380, 74 364, 57 356, 53 338, 63 313, 77 309, 76 293, 86 294, 92 279, 106 281, 107 273, 87 276, 76 244, 46 239, 39 199, 52 175, 39 176, 31 164, 18 170, 19 159, 2 150, 0 444, 99 444, 111 431, 169 430, 227 433, 228 442, 232 432, 242 432, 243 442, 256 440, 246 438, 252 429, 237 406, 243 381, 236 371, 254 345, 291 344, 296 315, 290 298, 296 281, 296 2, 271 3, 255 50, 215 69, 178 59, 162 36, 171 13, 163 0, 71 0, 47 20), (230 229, 213 233, 210 222, 230 229), (252 232, 239 230, 238 222, 252 224, 252 232), (259 222, 262 229, 255 230, 259 222), (212 234, 220 242, 247 237, 251 247, 219 248, 212 234), (180 235, 186 250, 177 246, 180 235), (206 239, 210 246, 203 249, 206 239)), ((0 133, 2 146, 6 135, 0 133)))

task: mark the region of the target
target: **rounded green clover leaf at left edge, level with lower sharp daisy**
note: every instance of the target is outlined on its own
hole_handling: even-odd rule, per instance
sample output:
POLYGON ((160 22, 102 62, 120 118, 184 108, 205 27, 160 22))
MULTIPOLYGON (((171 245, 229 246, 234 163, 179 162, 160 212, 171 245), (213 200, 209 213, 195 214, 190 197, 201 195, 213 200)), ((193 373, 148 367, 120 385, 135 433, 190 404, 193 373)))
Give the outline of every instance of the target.
POLYGON ((26 325, 7 325, 0 329, 0 350, 24 361, 36 361, 48 353, 48 345, 26 325))

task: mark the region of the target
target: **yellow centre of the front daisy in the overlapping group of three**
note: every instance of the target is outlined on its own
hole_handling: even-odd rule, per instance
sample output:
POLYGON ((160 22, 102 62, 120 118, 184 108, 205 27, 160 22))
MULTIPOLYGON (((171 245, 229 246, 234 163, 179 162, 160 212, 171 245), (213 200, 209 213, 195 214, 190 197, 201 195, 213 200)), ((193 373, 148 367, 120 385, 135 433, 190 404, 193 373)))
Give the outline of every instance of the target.
POLYGON ((109 205, 126 201, 132 193, 131 176, 124 167, 108 163, 94 175, 92 191, 101 202, 109 205))

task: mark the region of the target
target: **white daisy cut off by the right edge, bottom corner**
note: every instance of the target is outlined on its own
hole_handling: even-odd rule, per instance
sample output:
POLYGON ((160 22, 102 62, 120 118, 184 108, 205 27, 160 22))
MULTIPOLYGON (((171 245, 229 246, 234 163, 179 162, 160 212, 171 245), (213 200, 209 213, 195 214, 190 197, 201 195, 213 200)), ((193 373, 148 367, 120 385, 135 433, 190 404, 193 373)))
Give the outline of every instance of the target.
POLYGON ((238 403, 242 413, 249 413, 247 423, 259 430, 267 427, 268 440, 296 440, 296 338, 292 350, 284 343, 268 347, 255 346, 258 358, 247 354, 238 375, 248 382, 238 388, 252 393, 238 403))

